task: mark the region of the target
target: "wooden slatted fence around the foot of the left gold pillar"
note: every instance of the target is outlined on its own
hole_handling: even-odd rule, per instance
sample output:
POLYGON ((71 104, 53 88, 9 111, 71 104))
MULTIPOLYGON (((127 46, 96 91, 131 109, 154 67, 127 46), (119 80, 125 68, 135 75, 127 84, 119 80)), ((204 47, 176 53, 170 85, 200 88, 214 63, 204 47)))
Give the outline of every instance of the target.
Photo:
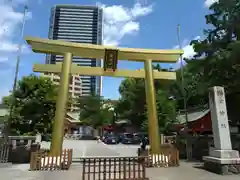
POLYGON ((31 171, 68 170, 72 164, 72 149, 64 149, 60 156, 51 156, 40 150, 31 154, 31 171))

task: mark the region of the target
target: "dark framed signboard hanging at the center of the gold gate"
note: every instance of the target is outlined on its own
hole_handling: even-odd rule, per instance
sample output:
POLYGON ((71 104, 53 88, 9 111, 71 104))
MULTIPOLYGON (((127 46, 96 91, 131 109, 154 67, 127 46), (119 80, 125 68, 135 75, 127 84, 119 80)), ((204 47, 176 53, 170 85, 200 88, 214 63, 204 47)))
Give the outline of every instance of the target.
POLYGON ((106 49, 104 56, 104 71, 115 71, 117 69, 118 50, 106 49))

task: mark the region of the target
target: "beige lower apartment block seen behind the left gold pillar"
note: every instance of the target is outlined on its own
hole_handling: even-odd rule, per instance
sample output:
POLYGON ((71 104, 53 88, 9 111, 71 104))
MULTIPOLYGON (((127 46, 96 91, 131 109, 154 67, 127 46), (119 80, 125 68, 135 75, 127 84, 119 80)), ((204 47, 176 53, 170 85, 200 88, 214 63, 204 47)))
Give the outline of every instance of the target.
MULTIPOLYGON (((60 76, 54 73, 49 73, 49 74, 40 74, 41 77, 49 78, 55 85, 60 84, 60 76)), ((82 82, 81 79, 78 75, 71 75, 69 76, 69 88, 68 92, 69 95, 73 98, 76 99, 79 96, 82 96, 82 82)), ((77 110, 78 108, 74 104, 70 104, 68 110, 69 111, 74 111, 77 110)))

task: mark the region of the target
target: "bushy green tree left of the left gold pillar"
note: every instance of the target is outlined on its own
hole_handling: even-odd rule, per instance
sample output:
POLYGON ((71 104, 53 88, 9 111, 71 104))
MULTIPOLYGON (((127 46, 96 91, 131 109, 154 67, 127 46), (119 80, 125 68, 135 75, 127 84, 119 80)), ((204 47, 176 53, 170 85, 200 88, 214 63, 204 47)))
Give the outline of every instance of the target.
POLYGON ((57 87, 51 80, 30 75, 23 77, 17 84, 16 91, 3 98, 3 103, 10 109, 11 134, 35 135, 50 133, 55 114, 57 87))

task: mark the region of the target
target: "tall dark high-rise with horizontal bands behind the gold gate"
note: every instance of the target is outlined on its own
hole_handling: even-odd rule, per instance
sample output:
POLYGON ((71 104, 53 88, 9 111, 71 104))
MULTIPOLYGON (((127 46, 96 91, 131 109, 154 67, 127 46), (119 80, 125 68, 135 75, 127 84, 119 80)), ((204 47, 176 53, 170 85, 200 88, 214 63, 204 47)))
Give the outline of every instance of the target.
MULTIPOLYGON (((102 44, 103 12, 97 6, 56 5, 51 10, 49 39, 76 43, 102 44)), ((61 55, 47 55, 46 63, 61 62, 61 55)), ((79 66, 100 67, 100 59, 73 57, 79 66)), ((102 77, 81 76, 82 95, 101 95, 102 77)))

